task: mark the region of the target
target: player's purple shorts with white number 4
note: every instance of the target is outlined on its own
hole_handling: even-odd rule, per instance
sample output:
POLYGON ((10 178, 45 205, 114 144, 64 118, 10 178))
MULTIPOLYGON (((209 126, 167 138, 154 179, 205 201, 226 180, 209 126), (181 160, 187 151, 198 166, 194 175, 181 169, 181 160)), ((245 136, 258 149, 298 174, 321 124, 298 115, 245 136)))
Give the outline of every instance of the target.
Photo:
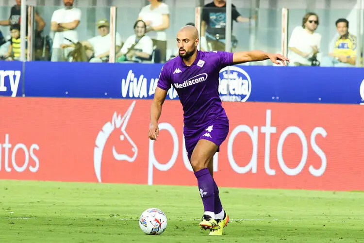
POLYGON ((187 150, 188 159, 191 161, 192 152, 200 139, 206 139, 218 146, 225 141, 229 133, 229 120, 215 119, 200 129, 189 129, 183 127, 184 144, 187 150))

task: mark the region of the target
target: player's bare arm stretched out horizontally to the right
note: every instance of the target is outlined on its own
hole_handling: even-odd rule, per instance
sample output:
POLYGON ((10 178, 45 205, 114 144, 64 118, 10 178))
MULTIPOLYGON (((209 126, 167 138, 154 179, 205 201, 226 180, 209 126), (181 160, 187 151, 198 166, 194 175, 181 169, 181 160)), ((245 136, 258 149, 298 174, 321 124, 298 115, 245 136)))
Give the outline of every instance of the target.
POLYGON ((241 64, 248 62, 257 62, 268 60, 272 61, 274 64, 286 65, 285 61, 289 62, 289 59, 282 56, 281 54, 267 53, 261 50, 251 50, 251 51, 239 51, 234 52, 232 55, 233 64, 241 64), (280 63, 281 62, 281 63, 280 63))

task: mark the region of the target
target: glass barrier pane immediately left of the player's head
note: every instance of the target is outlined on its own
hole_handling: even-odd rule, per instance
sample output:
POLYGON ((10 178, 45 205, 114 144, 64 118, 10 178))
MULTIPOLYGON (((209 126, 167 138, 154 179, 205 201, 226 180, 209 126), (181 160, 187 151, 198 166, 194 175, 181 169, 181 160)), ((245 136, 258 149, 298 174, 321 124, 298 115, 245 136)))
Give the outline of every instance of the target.
POLYGON ((140 9, 117 8, 117 29, 123 32, 122 38, 126 41, 117 55, 118 62, 165 63, 178 55, 177 32, 187 23, 195 22, 195 6, 183 8, 162 3, 160 7, 162 14, 158 16, 149 14, 150 5, 140 9), (147 33, 140 40, 145 24, 137 20, 143 20, 147 25, 147 33), (163 28, 163 25, 169 27, 151 30, 154 27, 163 28), (135 38, 139 40, 136 44, 135 38))

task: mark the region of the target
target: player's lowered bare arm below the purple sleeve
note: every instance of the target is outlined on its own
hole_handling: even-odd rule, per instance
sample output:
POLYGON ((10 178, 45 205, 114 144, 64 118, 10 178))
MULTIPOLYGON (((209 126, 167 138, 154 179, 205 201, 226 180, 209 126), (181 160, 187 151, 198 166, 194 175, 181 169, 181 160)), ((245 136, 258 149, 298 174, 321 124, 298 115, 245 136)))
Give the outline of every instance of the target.
POLYGON ((158 120, 162 113, 162 105, 165 102, 167 91, 157 87, 154 92, 153 102, 150 106, 150 128, 149 139, 156 140, 159 133, 158 120))

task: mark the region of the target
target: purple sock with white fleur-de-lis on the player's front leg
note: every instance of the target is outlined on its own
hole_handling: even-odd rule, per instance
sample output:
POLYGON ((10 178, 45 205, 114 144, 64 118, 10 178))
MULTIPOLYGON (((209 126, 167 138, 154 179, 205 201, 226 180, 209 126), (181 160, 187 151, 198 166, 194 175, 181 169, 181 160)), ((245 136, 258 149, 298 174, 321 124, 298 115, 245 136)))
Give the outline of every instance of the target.
POLYGON ((205 214, 215 219, 214 179, 207 168, 196 171, 195 176, 199 184, 199 194, 202 198, 205 214))

